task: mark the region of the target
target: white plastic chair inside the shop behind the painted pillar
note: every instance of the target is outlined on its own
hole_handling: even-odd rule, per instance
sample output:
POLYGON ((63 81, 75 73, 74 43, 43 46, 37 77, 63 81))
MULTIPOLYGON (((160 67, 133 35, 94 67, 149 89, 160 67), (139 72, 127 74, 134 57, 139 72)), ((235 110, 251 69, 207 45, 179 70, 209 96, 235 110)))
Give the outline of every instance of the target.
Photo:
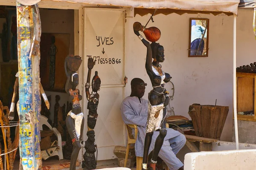
POLYGON ((54 153, 52 154, 52 156, 59 156, 59 160, 63 159, 63 153, 62 153, 62 144, 61 144, 61 133, 59 133, 59 131, 53 127, 47 122, 48 118, 41 115, 40 117, 40 130, 43 130, 43 125, 47 125, 47 127, 49 127, 50 130, 53 131, 53 133, 55 134, 55 136, 57 136, 57 141, 58 141, 58 147, 60 147, 60 149, 55 150, 54 153), (55 152, 58 152, 55 153, 55 152))

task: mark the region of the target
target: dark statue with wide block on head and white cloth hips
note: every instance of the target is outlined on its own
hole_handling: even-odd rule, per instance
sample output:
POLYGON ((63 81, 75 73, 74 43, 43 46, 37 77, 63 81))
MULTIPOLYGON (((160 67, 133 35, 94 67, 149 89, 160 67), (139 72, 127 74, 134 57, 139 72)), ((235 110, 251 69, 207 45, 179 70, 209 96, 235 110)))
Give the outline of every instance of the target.
POLYGON ((71 154, 70 170, 76 169, 76 160, 81 149, 81 139, 84 129, 84 114, 81 111, 79 101, 82 99, 79 89, 76 86, 79 83, 79 77, 76 71, 78 71, 81 65, 81 57, 68 56, 65 59, 65 72, 67 75, 67 82, 65 85, 65 91, 70 94, 70 102, 72 103, 72 110, 67 114, 66 126, 67 131, 71 137, 73 143, 73 151, 71 154), (68 88, 68 84, 72 85, 68 88))

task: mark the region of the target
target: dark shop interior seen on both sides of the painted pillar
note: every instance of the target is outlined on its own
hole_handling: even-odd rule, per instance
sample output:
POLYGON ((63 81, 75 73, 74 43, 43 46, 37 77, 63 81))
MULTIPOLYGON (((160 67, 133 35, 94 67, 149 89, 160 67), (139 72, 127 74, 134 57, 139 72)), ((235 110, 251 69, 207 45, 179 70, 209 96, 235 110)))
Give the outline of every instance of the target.
MULTIPOLYGON (((40 16, 42 27, 40 78, 50 102, 49 110, 43 99, 41 102, 40 143, 44 167, 56 164, 56 161, 65 164, 72 153, 72 141, 65 126, 65 119, 71 108, 69 95, 64 91, 67 80, 64 60, 68 54, 74 54, 74 10, 40 8, 40 16), (46 154, 46 151, 52 153, 51 156, 46 154)), ((0 6, 0 100, 3 106, 8 108, 12 102, 17 71, 16 6, 0 6)), ((15 100, 17 103, 18 95, 15 100)), ((16 105, 13 121, 18 121, 16 105)), ((12 142, 15 139, 15 128, 10 127, 12 142)), ((4 146, 2 133, 0 140, 4 146)), ((4 147, 2 153, 3 151, 4 147)), ((19 159, 19 151, 17 151, 14 169, 19 169, 19 159)), ((2 160, 4 164, 4 156, 2 160)))

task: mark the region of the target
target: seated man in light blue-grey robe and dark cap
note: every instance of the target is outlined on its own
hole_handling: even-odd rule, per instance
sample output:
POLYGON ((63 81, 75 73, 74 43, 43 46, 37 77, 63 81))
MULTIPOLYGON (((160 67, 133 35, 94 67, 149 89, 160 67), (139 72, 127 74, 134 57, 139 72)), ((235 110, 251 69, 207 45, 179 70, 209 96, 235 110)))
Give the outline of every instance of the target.
MULTIPOLYGON (((142 79, 132 79, 131 95, 122 101, 120 108, 122 119, 125 124, 134 124, 138 126, 135 154, 140 157, 143 157, 146 123, 148 119, 148 101, 142 98, 145 93, 145 85, 146 84, 142 79)), ((152 136, 149 152, 154 149, 154 143, 158 135, 159 131, 155 131, 152 136)), ((171 128, 167 128, 167 135, 158 156, 163 159, 170 170, 183 170, 183 164, 176 157, 176 154, 185 143, 186 137, 183 134, 171 128)))

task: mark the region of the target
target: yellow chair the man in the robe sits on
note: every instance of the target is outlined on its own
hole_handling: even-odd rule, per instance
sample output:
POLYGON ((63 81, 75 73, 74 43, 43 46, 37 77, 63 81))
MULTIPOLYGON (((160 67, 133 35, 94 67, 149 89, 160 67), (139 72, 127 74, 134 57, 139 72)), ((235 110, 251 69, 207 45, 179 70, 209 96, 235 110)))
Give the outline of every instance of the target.
MULTIPOLYGON (((127 134, 128 134, 128 141, 127 141, 127 147, 126 147, 126 154, 125 154, 125 164, 124 167, 126 167, 126 163, 127 163, 127 159, 128 159, 128 154, 129 154, 129 150, 130 150, 130 145, 131 144, 135 144, 136 139, 137 139, 137 135, 138 135, 138 128, 137 125, 126 125, 126 129, 127 129, 127 134), (134 129, 135 131, 135 136, 133 136, 132 134, 132 129, 134 129)), ((136 157, 136 167, 137 170, 141 170, 141 164, 142 164, 142 160, 143 157, 136 157)))

